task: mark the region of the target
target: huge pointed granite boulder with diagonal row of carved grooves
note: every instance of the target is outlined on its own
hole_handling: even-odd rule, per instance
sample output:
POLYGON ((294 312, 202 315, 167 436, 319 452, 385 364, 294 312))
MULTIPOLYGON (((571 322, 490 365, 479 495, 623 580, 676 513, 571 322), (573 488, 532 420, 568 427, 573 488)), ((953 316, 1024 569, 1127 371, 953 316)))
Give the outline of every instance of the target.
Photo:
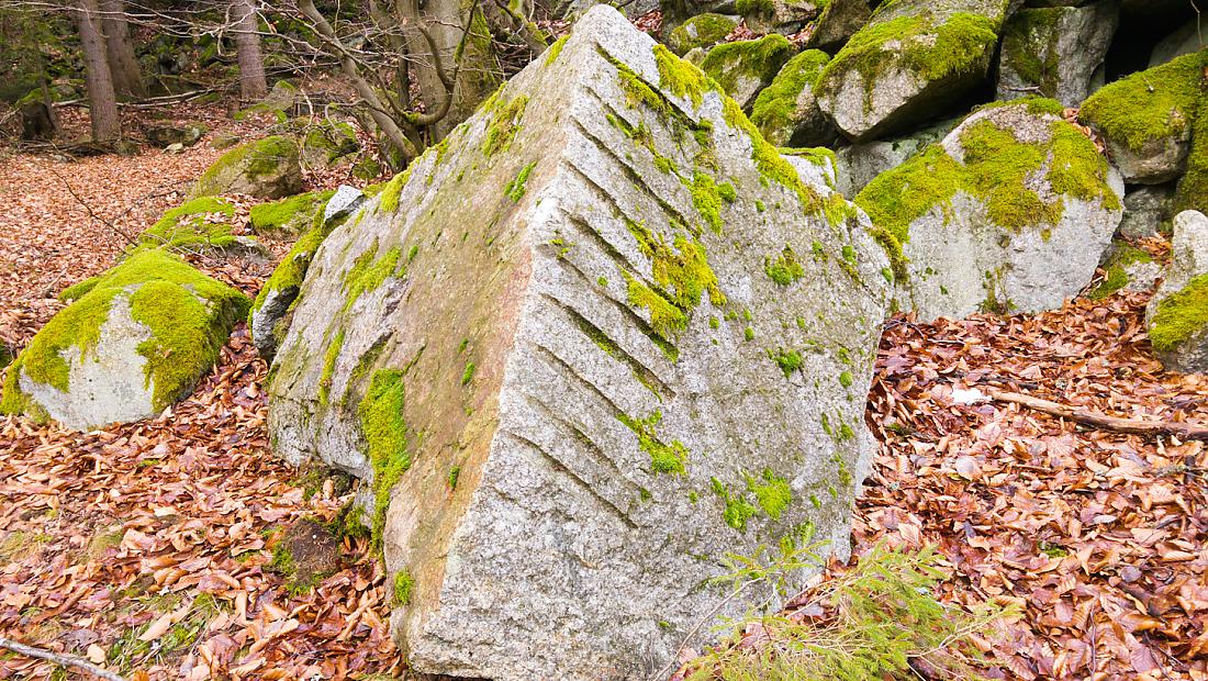
POLYGON ((272 437, 371 481, 417 671, 644 677, 724 552, 848 551, 887 260, 693 81, 593 8, 307 272, 272 437))

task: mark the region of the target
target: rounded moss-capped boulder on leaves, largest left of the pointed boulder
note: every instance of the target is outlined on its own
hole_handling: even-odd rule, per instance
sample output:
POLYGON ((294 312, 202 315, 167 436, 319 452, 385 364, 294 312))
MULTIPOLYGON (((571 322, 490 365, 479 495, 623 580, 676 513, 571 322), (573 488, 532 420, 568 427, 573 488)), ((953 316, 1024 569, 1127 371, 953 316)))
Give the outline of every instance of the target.
POLYGON ((152 417, 187 395, 250 302, 158 249, 63 297, 74 302, 8 368, 0 412, 77 430, 152 417))

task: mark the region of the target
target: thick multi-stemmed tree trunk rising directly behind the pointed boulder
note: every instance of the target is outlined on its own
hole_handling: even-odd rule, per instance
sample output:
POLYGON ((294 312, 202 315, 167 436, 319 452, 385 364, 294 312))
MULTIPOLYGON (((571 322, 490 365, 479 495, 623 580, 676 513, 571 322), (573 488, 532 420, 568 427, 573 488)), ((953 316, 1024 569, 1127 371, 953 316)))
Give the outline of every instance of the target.
MULTIPOLYGON (((495 92, 503 82, 503 69, 490 42, 490 30, 474 0, 400 0, 397 7, 402 25, 428 28, 448 75, 458 69, 448 115, 432 126, 432 141, 437 141, 495 92), (465 25, 470 27, 469 36, 463 31, 465 25), (459 50, 463 36, 465 48, 459 50)), ((436 75, 431 50, 424 36, 417 30, 408 30, 407 45, 407 53, 413 58, 411 75, 419 82, 424 104, 431 110, 443 97, 445 85, 436 75)))

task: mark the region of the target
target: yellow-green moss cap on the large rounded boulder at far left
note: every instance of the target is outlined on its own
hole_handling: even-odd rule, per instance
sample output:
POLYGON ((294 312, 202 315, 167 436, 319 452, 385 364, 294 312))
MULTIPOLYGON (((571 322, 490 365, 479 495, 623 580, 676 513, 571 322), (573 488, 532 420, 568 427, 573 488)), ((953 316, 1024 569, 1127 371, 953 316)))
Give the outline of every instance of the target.
POLYGON ((18 386, 21 374, 68 391, 70 367, 63 353, 79 348, 87 357, 97 348, 100 327, 118 295, 129 296, 130 316, 151 332, 138 353, 147 360, 145 376, 147 385, 153 385, 156 409, 192 389, 217 359, 231 325, 250 304, 239 291, 168 252, 140 250, 101 275, 34 337, 8 369, 0 411, 21 413, 35 407, 18 386))

